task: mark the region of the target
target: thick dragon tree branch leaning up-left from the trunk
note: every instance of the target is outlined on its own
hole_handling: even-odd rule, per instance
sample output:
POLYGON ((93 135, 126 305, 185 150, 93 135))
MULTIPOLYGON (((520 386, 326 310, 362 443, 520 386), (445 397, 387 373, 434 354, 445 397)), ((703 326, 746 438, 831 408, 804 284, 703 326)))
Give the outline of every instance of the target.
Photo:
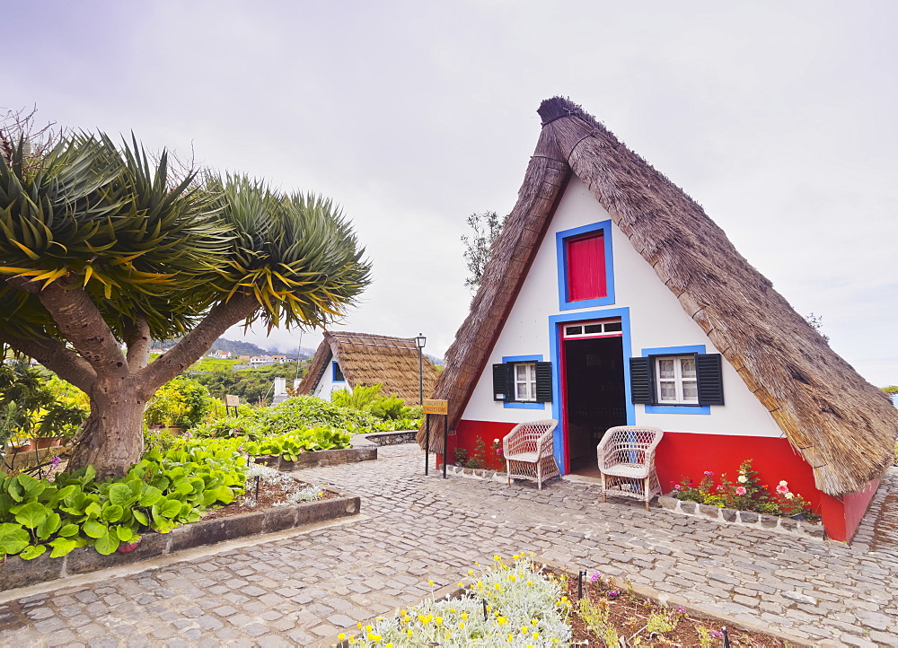
POLYGON ((26 293, 35 293, 50 317, 78 353, 91 364, 97 374, 125 375, 128 363, 106 320, 80 286, 66 286, 55 281, 42 288, 40 282, 13 276, 10 285, 26 293))

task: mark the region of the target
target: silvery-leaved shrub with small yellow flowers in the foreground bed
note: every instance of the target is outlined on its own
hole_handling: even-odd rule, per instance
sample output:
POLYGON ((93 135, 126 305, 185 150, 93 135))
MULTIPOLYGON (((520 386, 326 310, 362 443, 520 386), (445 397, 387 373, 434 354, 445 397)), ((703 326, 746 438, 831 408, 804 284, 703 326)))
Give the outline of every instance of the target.
POLYGON ((359 624, 360 635, 341 634, 338 639, 396 648, 564 645, 571 636, 569 609, 559 583, 541 574, 529 558, 515 556, 515 562, 506 565, 495 556, 461 598, 428 600, 373 625, 359 624))

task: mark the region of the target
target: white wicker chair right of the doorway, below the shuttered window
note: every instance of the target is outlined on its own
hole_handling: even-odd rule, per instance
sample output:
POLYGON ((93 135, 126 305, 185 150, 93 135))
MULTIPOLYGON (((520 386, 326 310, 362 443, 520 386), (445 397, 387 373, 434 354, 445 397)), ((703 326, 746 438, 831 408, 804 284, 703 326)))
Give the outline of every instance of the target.
POLYGON ((661 495, 655 469, 655 450, 664 432, 660 427, 612 427, 596 449, 602 473, 602 501, 609 493, 636 497, 648 503, 661 495))

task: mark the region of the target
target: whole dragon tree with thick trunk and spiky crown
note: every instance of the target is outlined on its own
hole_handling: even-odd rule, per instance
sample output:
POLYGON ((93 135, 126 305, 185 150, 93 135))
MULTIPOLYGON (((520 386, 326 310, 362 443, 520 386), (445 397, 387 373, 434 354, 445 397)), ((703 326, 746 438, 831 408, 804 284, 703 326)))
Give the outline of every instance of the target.
POLYGON ((0 342, 90 397, 72 468, 128 470, 155 390, 227 328, 321 326, 369 283, 328 199, 178 177, 133 138, 66 135, 47 149, 19 130, 0 128, 0 342), (153 338, 178 336, 149 362, 153 338))

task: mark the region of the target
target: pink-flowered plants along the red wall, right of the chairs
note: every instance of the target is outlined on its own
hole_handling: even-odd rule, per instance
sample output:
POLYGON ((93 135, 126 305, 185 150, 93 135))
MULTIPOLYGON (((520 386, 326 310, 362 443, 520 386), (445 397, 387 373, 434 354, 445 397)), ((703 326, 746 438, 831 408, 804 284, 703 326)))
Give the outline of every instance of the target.
POLYGON ((680 484, 671 482, 671 495, 677 499, 709 504, 720 508, 756 511, 771 515, 797 515, 810 512, 807 500, 789 491, 788 482, 781 481, 776 495, 771 495, 767 486, 761 484, 758 472, 752 468, 752 460, 744 460, 739 466, 735 482, 720 476, 720 484, 715 484, 714 473, 706 470, 698 484, 691 479, 683 479, 680 484))

